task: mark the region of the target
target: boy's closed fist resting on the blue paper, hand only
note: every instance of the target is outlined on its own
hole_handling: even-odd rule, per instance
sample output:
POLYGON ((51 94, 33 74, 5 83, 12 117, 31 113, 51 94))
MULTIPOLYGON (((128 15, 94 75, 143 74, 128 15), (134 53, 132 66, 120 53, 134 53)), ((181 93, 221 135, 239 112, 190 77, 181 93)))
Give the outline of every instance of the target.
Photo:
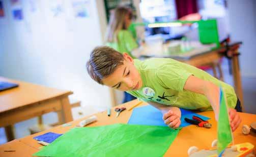
POLYGON ((180 116, 175 114, 172 110, 163 114, 163 121, 168 127, 173 129, 176 129, 181 125, 180 116))

